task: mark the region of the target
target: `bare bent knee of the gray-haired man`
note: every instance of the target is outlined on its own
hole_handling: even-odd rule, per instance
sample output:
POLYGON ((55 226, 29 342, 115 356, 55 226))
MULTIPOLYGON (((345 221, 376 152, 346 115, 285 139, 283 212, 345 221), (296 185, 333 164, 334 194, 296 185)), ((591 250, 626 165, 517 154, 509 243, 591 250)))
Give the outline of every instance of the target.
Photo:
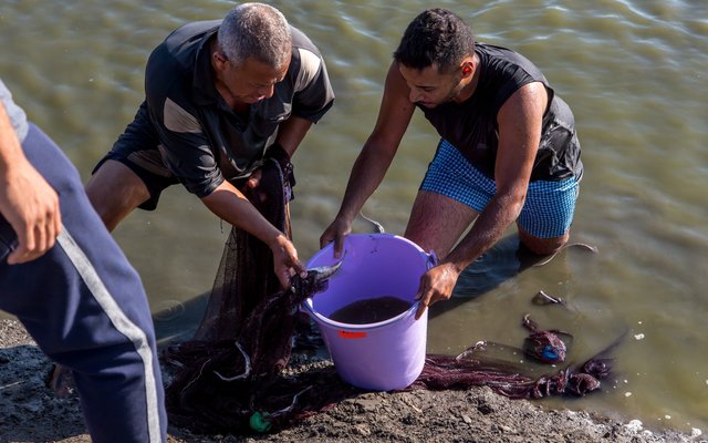
POLYGON ((149 198, 143 181, 129 167, 107 159, 86 183, 86 194, 108 230, 149 198))

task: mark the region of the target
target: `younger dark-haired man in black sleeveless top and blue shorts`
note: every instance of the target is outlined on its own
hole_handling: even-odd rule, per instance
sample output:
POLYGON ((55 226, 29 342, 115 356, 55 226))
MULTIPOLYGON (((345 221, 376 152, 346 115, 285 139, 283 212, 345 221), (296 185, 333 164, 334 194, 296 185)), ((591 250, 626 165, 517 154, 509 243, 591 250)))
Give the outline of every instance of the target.
POLYGON ((569 238, 583 167, 573 114, 543 74, 513 51, 476 44, 452 12, 426 10, 394 53, 376 126, 322 246, 334 240, 335 254, 341 253, 416 107, 441 137, 405 233, 440 258, 421 278, 420 317, 450 298, 460 272, 514 222, 533 253, 560 249, 569 238))

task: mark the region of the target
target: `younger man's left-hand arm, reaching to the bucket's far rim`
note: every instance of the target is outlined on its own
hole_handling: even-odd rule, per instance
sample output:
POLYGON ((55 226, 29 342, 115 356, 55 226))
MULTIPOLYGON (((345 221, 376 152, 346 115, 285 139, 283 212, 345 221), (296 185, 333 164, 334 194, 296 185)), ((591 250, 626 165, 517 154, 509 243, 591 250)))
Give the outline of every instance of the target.
POLYGON ((337 258, 342 253, 344 236, 352 231, 352 222, 384 179, 410 123, 415 105, 408 100, 408 91, 398 72, 398 64, 392 63, 374 131, 354 162, 340 212, 320 237, 321 247, 334 241, 334 255, 337 258))

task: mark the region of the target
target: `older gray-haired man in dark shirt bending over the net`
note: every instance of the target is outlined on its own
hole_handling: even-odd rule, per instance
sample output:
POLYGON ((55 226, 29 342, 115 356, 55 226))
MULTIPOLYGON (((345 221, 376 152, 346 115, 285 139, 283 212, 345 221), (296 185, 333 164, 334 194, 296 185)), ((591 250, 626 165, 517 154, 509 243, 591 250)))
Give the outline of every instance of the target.
POLYGON ((164 188, 181 183, 267 244, 288 286, 304 270, 296 250, 239 187, 259 179, 269 156, 293 184, 290 157, 334 100, 316 47, 277 9, 244 3, 223 21, 168 35, 148 60, 145 86, 135 120, 86 186, 108 229, 136 207, 154 209, 164 188))

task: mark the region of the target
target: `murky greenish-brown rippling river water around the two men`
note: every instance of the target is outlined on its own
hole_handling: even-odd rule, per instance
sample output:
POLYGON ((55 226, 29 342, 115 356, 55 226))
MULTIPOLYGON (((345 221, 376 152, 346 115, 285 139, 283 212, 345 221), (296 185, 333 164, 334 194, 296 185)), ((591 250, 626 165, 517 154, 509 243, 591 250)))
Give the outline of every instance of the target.
MULTIPOLYGON (((337 95, 294 157, 294 239, 305 260, 317 250, 373 127, 391 53, 407 23, 428 7, 423 0, 385 3, 272 3, 319 44, 337 95)), ((0 75, 87 179, 143 99, 149 51, 180 23, 220 18, 232 4, 3 0, 0 75)), ((437 4, 468 19, 479 40, 534 61, 573 109, 585 176, 571 240, 598 253, 570 248, 520 271, 510 229, 465 274, 454 301, 431 311, 428 351, 459 353, 478 340, 520 346, 527 312, 543 328, 574 336, 571 363, 624 333, 613 351, 616 385, 541 404, 708 432, 708 2, 437 4), (566 307, 533 305, 539 290, 563 298, 566 307)), ((364 208, 387 231, 405 229, 436 142, 416 115, 364 208)), ((157 212, 137 212, 115 231, 143 277, 164 339, 194 328, 226 234, 181 187, 170 188, 157 212)))

